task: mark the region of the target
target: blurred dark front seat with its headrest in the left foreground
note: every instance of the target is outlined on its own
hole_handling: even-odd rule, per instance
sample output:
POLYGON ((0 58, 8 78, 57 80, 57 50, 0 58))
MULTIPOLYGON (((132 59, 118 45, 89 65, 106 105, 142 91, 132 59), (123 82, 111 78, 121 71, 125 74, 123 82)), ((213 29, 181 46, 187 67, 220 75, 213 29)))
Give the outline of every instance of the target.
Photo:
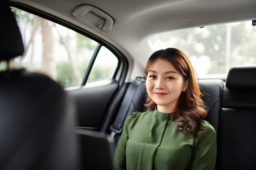
MULTIPOLYGON (((19 28, 0 2, 0 61, 23 52, 19 28)), ((1 63, 0 63, 1 64, 1 63)), ((63 88, 25 70, 0 72, 0 170, 78 170, 75 112, 63 88)))

